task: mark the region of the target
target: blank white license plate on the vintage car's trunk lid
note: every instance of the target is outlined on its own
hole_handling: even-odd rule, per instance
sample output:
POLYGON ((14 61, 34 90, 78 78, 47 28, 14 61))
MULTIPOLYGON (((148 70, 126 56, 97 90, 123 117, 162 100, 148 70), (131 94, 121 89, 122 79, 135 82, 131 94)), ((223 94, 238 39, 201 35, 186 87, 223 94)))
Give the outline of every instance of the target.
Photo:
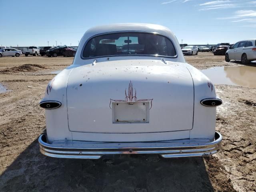
POLYGON ((113 102, 113 123, 149 122, 149 102, 113 102))

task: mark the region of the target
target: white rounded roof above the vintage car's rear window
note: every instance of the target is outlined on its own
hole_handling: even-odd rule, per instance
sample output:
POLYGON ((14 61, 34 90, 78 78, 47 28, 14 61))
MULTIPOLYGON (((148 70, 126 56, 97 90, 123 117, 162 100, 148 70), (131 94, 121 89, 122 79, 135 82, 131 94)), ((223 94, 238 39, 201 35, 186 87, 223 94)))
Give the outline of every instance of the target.
POLYGON ((157 24, 146 24, 146 23, 119 23, 110 24, 103 26, 96 26, 88 29, 84 38, 90 38, 92 36, 108 33, 108 32, 129 32, 129 31, 140 31, 140 32, 156 32, 168 36, 170 38, 174 37, 172 31, 164 26, 157 24))

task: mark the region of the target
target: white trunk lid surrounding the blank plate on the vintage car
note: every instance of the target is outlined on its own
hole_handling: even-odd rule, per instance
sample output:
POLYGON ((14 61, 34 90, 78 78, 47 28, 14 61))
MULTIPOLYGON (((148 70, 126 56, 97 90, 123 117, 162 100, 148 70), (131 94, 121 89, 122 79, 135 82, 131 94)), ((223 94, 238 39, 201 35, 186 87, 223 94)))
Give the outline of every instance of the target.
POLYGON ((141 133, 191 130, 194 88, 188 69, 182 65, 138 59, 120 63, 112 62, 110 58, 95 66, 74 68, 67 86, 70 131, 141 133), (149 105, 153 99, 149 123, 113 124, 110 99, 124 100, 130 81, 138 99, 148 99, 149 105), (180 106, 181 102, 184 105, 180 106), (177 120, 183 116, 186 116, 185 121, 177 120))

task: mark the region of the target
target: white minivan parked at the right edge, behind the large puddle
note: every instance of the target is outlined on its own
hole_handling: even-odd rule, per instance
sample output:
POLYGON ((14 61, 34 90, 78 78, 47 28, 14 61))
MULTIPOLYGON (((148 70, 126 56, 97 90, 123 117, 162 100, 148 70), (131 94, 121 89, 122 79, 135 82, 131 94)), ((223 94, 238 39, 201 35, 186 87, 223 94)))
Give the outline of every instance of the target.
POLYGON ((240 60, 242 64, 248 64, 256 60, 256 39, 244 40, 235 43, 225 55, 226 62, 230 60, 240 60))

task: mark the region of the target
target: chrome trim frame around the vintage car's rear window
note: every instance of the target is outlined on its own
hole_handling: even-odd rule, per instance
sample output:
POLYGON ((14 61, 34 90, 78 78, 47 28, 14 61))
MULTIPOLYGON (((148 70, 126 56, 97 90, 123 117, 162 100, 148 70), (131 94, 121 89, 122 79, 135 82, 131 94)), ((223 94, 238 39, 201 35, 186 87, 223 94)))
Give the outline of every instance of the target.
POLYGON ((97 35, 94 35, 94 36, 88 38, 88 39, 86 40, 86 42, 84 43, 83 48, 82 48, 82 52, 81 52, 81 54, 80 54, 80 57, 81 57, 81 59, 83 59, 83 60, 95 59, 95 58, 104 58, 104 57, 120 57, 120 56, 151 56, 151 57, 177 58, 177 57, 178 57, 178 50, 177 50, 177 48, 176 48, 176 46, 175 46, 173 40, 171 40, 168 36, 166 36, 166 35, 164 35, 164 34, 161 34, 161 33, 158 33, 158 32, 148 32, 148 31, 113 31, 113 32, 107 32, 107 33, 97 34, 97 35), (150 34, 154 34, 154 35, 161 35, 161 36, 164 36, 164 37, 166 37, 167 39, 169 39, 169 40, 172 42, 172 44, 173 44, 173 46, 174 46, 174 49, 175 49, 175 51, 176 51, 176 55, 175 55, 175 56, 163 56, 163 55, 146 55, 146 54, 145 54, 145 55, 127 54, 127 55, 96 56, 96 57, 89 57, 89 58, 83 57, 83 52, 84 52, 85 46, 86 46, 86 44, 88 43, 88 41, 90 41, 92 38, 97 37, 97 36, 101 36, 101 35, 113 34, 113 33, 130 33, 130 32, 150 33, 150 34))

